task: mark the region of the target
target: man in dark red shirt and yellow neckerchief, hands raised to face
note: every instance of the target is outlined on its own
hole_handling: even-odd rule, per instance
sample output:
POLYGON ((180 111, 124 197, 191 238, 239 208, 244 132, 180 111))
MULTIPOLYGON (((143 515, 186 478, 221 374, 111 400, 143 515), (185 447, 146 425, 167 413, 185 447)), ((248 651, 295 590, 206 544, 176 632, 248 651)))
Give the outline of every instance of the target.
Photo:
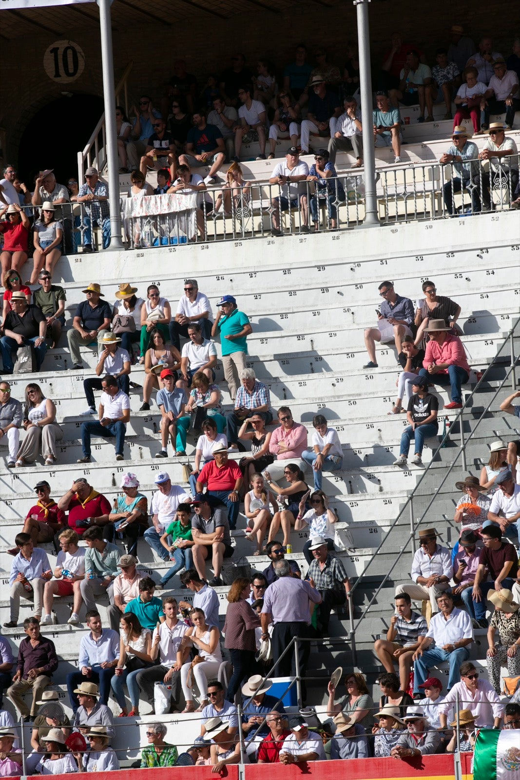
POLYGON ((69 527, 80 537, 90 526, 103 526, 105 541, 114 540, 114 523, 108 519, 110 502, 88 484, 85 477, 73 481, 72 488, 58 501, 58 509, 69 511, 69 527))

